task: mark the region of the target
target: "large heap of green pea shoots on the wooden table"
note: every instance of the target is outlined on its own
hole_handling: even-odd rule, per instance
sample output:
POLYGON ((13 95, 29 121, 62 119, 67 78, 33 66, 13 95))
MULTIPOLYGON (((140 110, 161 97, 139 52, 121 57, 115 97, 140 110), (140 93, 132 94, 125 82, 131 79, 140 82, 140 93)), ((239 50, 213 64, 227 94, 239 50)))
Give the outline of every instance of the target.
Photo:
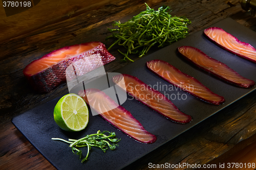
MULTIPOLYGON (((146 3, 145 3, 146 4, 146 3)), ((122 53, 125 57, 123 61, 128 59, 129 54, 139 53, 139 57, 145 55, 153 45, 158 47, 168 45, 172 42, 185 38, 188 35, 187 24, 191 23, 186 17, 177 17, 167 12, 170 9, 168 6, 162 6, 155 11, 146 4, 146 11, 140 12, 127 22, 121 23, 114 21, 113 27, 118 29, 109 29, 113 37, 117 40, 108 48, 115 45, 122 45, 127 48, 127 52, 122 53), (118 32, 118 33, 116 33, 118 32)))

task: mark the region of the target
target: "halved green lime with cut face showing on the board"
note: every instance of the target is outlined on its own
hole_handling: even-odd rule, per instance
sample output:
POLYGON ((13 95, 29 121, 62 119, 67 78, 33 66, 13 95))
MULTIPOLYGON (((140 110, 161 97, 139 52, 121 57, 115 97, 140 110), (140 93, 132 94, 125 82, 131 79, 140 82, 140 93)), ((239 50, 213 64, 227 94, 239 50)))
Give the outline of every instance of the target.
POLYGON ((54 120, 63 130, 74 132, 86 128, 89 112, 86 102, 77 94, 66 94, 54 108, 54 120))

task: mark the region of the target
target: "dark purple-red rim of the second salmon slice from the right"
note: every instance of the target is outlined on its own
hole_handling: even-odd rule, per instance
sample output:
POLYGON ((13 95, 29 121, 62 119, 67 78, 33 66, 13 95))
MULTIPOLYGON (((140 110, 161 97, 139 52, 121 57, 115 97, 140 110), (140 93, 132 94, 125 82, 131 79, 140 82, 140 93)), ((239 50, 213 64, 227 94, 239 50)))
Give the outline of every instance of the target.
MULTIPOLYGON (((226 81, 226 82, 228 82, 228 83, 231 83, 231 84, 233 84, 233 85, 237 85, 237 86, 239 86, 239 87, 244 87, 244 88, 251 88, 251 87, 253 87, 253 86, 255 85, 255 82, 254 82, 253 80, 251 80, 251 84, 248 84, 248 85, 247 85, 247 84, 241 84, 241 83, 232 82, 232 81, 230 81, 230 80, 228 80, 228 79, 226 79, 226 78, 224 78, 224 77, 221 77, 221 76, 217 75, 215 72, 213 72, 213 71, 211 71, 211 70, 208 70, 208 69, 204 68, 204 67, 201 66, 201 65, 198 65, 198 64, 195 63, 194 61, 190 60, 189 58, 187 58, 186 56, 184 56, 183 54, 181 54, 180 51, 179 51, 179 49, 182 48, 182 47, 194 48, 194 50, 198 51, 199 53, 201 53, 201 54, 204 55, 205 57, 209 58, 210 60, 213 60, 213 61, 218 62, 218 63, 222 63, 222 62, 220 62, 220 61, 218 61, 218 60, 216 60, 216 59, 214 59, 214 58, 209 57, 209 56, 206 55, 204 52, 202 52, 201 50, 199 50, 198 48, 193 47, 193 46, 180 46, 180 47, 177 48, 179 54, 180 54, 184 59, 186 59, 188 62, 193 63, 193 64, 196 65, 197 67, 203 69, 203 70, 206 71, 206 72, 209 72, 210 74, 212 74, 212 75, 214 75, 214 76, 220 78, 221 80, 224 80, 224 81, 226 81)), ((225 67, 229 68, 230 70, 232 70, 233 72, 236 72, 236 74, 238 74, 237 71, 231 69, 231 68, 230 68, 228 65, 226 65, 225 63, 222 63, 222 65, 224 65, 225 67)), ((238 75, 239 75, 239 74, 238 74, 238 75)), ((241 75, 239 75, 239 76, 241 76, 241 75)), ((242 76, 241 76, 241 77, 242 77, 242 76)), ((246 79, 246 78, 245 78, 245 79, 246 79)), ((248 79, 248 80, 249 80, 249 79, 248 79)))

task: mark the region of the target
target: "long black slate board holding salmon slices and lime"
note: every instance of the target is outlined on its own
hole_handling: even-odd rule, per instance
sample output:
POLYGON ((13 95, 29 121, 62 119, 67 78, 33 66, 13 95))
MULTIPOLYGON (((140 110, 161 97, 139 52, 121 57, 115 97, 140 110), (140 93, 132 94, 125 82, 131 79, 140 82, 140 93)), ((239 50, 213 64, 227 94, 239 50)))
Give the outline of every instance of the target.
MULTIPOLYGON (((248 42, 256 47, 256 33, 230 18, 224 19, 212 26, 220 27, 238 37, 241 41, 248 42)), ((53 119, 53 109, 59 98, 14 117, 12 123, 57 169, 121 169, 147 153, 157 149, 160 145, 172 140, 191 127, 194 127, 204 119, 227 107, 234 101, 239 100, 256 88, 252 87, 246 89, 231 85, 189 64, 177 54, 177 47, 182 45, 197 47, 208 56, 226 63, 240 75, 256 81, 255 63, 223 50, 203 36, 203 30, 201 30, 185 39, 166 46, 151 55, 116 70, 116 72, 138 77, 144 83, 158 88, 157 90, 164 93, 167 97, 169 95, 169 99, 171 95, 172 99, 174 99, 174 96, 176 95, 176 100, 172 100, 172 102, 181 111, 193 116, 193 121, 189 124, 176 124, 170 122, 138 101, 131 100, 131 97, 128 96, 129 99, 122 106, 126 110, 129 110, 148 132, 157 136, 157 141, 155 143, 139 143, 106 123, 101 117, 92 115, 90 115, 90 121, 85 130, 78 133, 62 131, 55 124, 53 119), (173 90, 170 89, 172 88, 171 85, 154 75, 145 67, 146 61, 153 59, 167 61, 186 74, 195 77, 213 92, 224 96, 226 102, 223 105, 215 106, 205 103, 183 91, 176 90, 175 88, 173 90), (160 89, 160 87, 166 86, 168 87, 168 90, 160 89), (183 95, 183 99, 186 96, 186 99, 178 100, 178 95, 180 97, 183 95), (71 148, 68 147, 67 143, 51 140, 52 137, 78 139, 86 134, 96 133, 98 130, 116 132, 116 136, 121 138, 119 147, 114 151, 108 150, 106 153, 103 153, 98 148, 92 148, 86 163, 81 163, 78 156, 73 155, 71 148)), ((86 155, 87 148, 82 149, 82 151, 83 155, 86 155)))

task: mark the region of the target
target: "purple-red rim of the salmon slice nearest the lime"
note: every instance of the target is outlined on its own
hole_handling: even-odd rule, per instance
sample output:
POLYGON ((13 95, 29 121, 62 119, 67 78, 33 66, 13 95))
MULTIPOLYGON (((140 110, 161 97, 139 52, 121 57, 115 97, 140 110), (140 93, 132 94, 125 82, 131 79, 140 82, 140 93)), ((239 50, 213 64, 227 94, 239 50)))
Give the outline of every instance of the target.
MULTIPOLYGON (((86 94, 86 90, 81 90, 81 91, 84 91, 84 94, 86 94)), ((79 91, 78 93, 80 93, 81 91, 79 91)), ((81 97, 81 98, 83 98, 83 97, 81 97)), ((84 101, 86 102, 86 100, 84 100, 84 101)), ((87 102, 86 102, 86 103, 87 103, 87 102)), ((89 105, 89 103, 87 103, 87 104, 89 105)), ((90 105, 89 105, 89 107, 91 108, 90 105)), ((143 127, 142 124, 139 122, 139 120, 137 120, 135 117, 133 117, 133 115, 132 115, 132 113, 131 113, 130 111, 126 110, 124 107, 122 107, 122 106, 120 106, 120 105, 118 106, 118 108, 121 109, 121 110, 124 110, 124 111, 129 112, 129 114, 131 115, 131 117, 132 117, 134 120, 136 120, 136 122, 137 122, 141 127, 143 127)), ((91 108, 91 109, 93 109, 93 108, 91 108)), ((99 115, 102 119, 104 119, 107 123, 109 123, 111 126, 115 127, 115 128, 116 128, 117 130, 119 130, 120 132, 124 133, 124 134, 127 135, 128 137, 133 138, 134 140, 136 140, 136 141, 138 141, 138 142, 140 142, 140 143, 150 144, 150 143, 154 143, 154 142, 157 140, 156 135, 154 135, 154 134, 152 134, 152 133, 150 133, 150 132, 148 132, 148 131, 146 131, 146 132, 148 132, 148 135, 151 135, 151 136, 153 137, 152 140, 147 141, 147 142, 143 142, 143 141, 141 141, 141 140, 138 140, 138 139, 136 139, 134 136, 131 136, 131 135, 127 134, 126 132, 120 130, 117 126, 115 126, 114 124, 112 124, 110 120, 108 120, 108 119, 106 119, 105 117, 103 117, 100 113, 99 113, 98 115, 99 115)), ((143 128, 144 128, 144 127, 143 127, 143 128)))

